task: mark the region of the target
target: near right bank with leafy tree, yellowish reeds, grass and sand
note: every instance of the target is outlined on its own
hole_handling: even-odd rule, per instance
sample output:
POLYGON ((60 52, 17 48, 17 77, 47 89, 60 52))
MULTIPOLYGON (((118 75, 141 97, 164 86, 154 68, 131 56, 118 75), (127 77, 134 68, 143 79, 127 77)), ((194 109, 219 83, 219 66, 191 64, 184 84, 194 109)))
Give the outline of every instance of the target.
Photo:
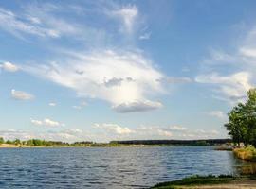
MULTIPOLYGON (((247 92, 247 101, 237 104, 229 112, 229 131, 232 146, 218 146, 217 150, 232 150, 236 158, 256 162, 256 89, 247 92)), ((158 183, 155 189, 167 188, 256 188, 256 165, 242 167, 238 176, 192 176, 183 180, 158 183)))

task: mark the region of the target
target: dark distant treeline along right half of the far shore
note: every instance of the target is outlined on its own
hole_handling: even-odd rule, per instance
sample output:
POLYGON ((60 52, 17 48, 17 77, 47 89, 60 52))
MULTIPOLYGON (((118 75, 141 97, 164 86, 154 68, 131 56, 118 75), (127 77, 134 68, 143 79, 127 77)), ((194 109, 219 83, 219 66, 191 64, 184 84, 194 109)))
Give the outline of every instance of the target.
POLYGON ((231 143, 231 139, 206 139, 206 140, 129 140, 111 141, 121 145, 189 145, 189 146, 213 146, 231 143))

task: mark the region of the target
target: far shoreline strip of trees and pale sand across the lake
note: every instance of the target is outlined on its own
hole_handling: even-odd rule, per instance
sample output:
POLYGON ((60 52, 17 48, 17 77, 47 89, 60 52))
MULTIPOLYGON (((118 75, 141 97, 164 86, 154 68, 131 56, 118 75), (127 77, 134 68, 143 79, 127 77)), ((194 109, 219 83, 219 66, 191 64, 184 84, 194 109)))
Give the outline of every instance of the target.
POLYGON ((61 141, 46 141, 41 139, 7 140, 0 137, 0 147, 119 147, 119 146, 220 146, 230 143, 230 139, 208 140, 130 140, 95 143, 90 141, 65 143, 61 141))

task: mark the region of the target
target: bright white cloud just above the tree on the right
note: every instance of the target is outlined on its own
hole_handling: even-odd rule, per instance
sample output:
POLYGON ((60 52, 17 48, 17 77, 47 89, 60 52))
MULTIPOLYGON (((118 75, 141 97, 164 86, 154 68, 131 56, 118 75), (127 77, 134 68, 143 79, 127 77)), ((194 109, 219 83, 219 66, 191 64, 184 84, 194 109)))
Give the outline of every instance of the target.
POLYGON ((201 75, 195 78, 199 83, 213 84, 217 94, 224 96, 224 99, 231 103, 243 101, 246 92, 252 88, 250 83, 251 74, 248 72, 238 72, 229 76, 220 76, 217 73, 201 75))

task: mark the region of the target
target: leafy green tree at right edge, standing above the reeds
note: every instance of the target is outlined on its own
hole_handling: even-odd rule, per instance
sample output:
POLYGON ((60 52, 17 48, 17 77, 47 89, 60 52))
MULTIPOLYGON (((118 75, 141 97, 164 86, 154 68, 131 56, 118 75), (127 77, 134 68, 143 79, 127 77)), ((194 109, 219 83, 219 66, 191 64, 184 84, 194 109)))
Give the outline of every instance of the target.
POLYGON ((246 103, 239 103, 228 115, 225 127, 233 142, 256 146, 256 89, 249 90, 246 103))

